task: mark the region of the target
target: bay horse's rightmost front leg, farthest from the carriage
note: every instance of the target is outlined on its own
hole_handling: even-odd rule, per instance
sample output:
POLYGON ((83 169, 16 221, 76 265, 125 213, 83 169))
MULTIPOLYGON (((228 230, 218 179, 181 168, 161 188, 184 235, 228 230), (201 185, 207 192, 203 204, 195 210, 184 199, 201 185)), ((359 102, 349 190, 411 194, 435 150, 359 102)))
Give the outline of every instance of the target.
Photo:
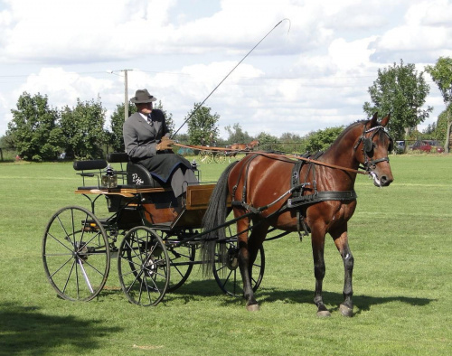
POLYGON ((353 255, 348 246, 348 234, 346 224, 341 230, 331 232, 334 239, 334 244, 339 250, 344 261, 344 302, 339 306, 341 314, 344 316, 353 316, 353 255))

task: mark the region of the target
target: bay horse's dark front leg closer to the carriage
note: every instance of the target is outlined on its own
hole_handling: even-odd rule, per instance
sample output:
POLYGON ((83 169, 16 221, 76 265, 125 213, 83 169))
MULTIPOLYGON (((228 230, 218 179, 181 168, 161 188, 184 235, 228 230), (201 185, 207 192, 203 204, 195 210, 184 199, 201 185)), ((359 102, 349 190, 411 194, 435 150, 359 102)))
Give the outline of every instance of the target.
POLYGON ((311 234, 312 253, 314 258, 315 296, 314 303, 317 306, 317 316, 330 316, 326 309, 322 296, 322 286, 325 277, 325 230, 313 229, 311 234))

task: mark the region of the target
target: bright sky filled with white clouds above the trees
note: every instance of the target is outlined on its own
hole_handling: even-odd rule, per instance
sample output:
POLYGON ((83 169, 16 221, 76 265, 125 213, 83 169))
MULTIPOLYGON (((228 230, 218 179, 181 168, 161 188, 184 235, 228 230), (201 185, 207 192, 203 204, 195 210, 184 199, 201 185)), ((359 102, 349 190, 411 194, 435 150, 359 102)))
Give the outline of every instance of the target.
MULTIPOLYGON (((0 136, 24 92, 51 108, 99 98, 108 127, 125 70, 127 98, 148 89, 180 133, 205 98, 223 138, 234 124, 250 136, 347 126, 366 118, 379 69, 452 56, 451 19, 452 0, 0 0, 0 136)), ((444 109, 424 76, 434 110, 419 129, 444 109)))

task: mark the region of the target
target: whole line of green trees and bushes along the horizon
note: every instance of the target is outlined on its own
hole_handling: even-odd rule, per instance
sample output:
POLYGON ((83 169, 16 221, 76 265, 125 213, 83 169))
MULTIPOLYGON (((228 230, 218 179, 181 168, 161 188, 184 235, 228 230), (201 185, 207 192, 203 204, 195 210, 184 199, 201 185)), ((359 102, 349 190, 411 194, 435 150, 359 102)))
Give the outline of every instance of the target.
MULTIPOLYGON (((377 79, 369 87, 371 101, 363 104, 363 111, 371 117, 378 111, 381 116, 391 112, 389 132, 395 140, 437 139, 445 141, 445 150, 449 152, 449 136, 452 126, 452 59, 440 57, 435 65, 428 65, 418 71, 414 64, 394 63, 378 70, 377 79), (429 117, 433 108, 424 108, 429 94, 425 72, 438 85, 445 110, 435 124, 429 125, 420 133, 417 126, 429 117)), ((129 114, 137 111, 135 105, 128 105, 129 114)), ((174 132, 173 115, 163 108, 161 102, 155 105, 164 111, 167 124, 174 132)), ((75 107, 50 108, 46 95, 32 96, 24 92, 12 109, 13 119, 8 123, 6 135, 0 138, 0 147, 14 147, 25 160, 52 161, 61 152, 75 159, 93 159, 105 156, 106 147, 113 151, 124 152, 122 125, 124 122, 124 104, 120 104, 110 117, 110 126, 105 128, 106 112, 100 98, 90 101, 77 100, 75 107)), ((185 117, 188 124, 187 134, 174 136, 181 143, 189 145, 219 145, 249 143, 258 139, 261 149, 287 150, 297 144, 297 152, 315 152, 325 150, 343 131, 344 126, 328 127, 311 132, 306 136, 297 136, 287 132, 281 136, 272 136, 261 132, 250 136, 240 124, 226 126, 226 140, 221 139, 218 128, 220 115, 212 114, 211 108, 195 103, 185 117)))

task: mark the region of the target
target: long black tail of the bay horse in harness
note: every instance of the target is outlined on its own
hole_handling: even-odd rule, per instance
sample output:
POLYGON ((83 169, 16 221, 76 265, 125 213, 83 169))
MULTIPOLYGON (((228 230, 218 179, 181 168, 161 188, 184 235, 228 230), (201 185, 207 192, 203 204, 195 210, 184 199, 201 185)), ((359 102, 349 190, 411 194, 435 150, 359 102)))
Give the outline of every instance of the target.
POLYGON ((215 262, 215 245, 220 239, 226 239, 224 227, 216 229, 224 224, 228 216, 228 178, 232 168, 239 162, 233 162, 221 173, 220 179, 213 188, 211 199, 204 218, 202 219, 202 228, 209 231, 202 237, 201 256, 202 271, 204 276, 210 275, 215 262))

